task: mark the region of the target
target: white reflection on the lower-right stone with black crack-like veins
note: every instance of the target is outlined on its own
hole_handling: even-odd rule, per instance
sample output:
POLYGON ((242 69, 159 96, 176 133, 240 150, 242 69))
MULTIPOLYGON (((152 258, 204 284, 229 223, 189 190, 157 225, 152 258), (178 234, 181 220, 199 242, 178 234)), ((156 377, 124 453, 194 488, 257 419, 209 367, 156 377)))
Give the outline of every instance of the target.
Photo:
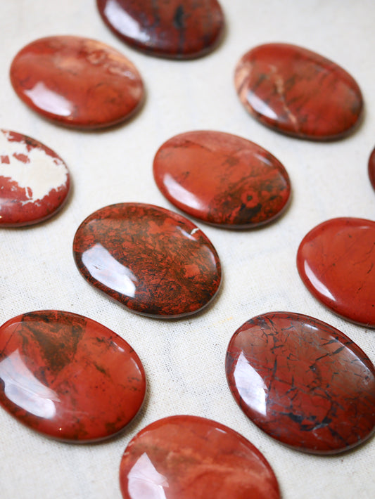
POLYGON ((243 401, 253 410, 266 415, 267 386, 258 372, 248 363, 242 351, 236 363, 234 379, 236 380, 236 387, 243 401))

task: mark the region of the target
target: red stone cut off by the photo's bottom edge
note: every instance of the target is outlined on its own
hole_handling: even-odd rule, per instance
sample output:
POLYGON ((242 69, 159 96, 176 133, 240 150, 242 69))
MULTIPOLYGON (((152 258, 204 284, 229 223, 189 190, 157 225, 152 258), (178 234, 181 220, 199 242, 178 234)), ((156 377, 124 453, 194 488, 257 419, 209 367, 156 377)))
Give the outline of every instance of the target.
POLYGON ((120 464, 124 499, 279 499, 267 460, 234 430, 195 416, 153 422, 120 464))

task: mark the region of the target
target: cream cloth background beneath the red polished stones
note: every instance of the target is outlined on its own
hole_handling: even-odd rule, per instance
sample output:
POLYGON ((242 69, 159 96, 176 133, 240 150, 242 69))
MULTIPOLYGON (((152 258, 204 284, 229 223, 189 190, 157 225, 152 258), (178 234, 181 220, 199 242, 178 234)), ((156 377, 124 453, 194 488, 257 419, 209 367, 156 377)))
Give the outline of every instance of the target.
POLYGON ((367 160, 375 145, 375 1, 222 0, 222 7, 227 34, 221 46, 205 58, 175 62, 122 44, 103 24, 94 0, 0 1, 0 127, 56 150, 73 181, 61 214, 39 226, 1 229, 0 323, 39 309, 81 313, 132 344, 148 377, 146 403, 136 420, 116 439, 96 445, 46 439, 0 410, 2 499, 120 499, 118 467, 129 439, 154 420, 175 414, 209 417, 246 436, 274 468, 284 499, 375 497, 374 439, 333 457, 281 446, 243 415, 224 374, 234 331, 249 318, 275 310, 330 323, 374 361, 374 330, 324 309, 303 286, 295 254, 305 233, 326 219, 374 219, 367 160), (15 96, 8 69, 20 48, 51 34, 105 41, 128 56, 146 84, 139 115, 116 129, 83 132, 31 112, 15 96), (234 90, 234 66, 248 49, 268 41, 310 48, 357 79, 366 113, 355 134, 333 143, 299 141, 262 127, 247 114, 234 90), (198 223, 222 260, 219 296, 209 309, 187 319, 136 316, 84 281, 72 259, 72 239, 86 216, 115 202, 173 209, 153 181, 153 155, 167 138, 193 129, 227 131, 270 150, 291 176, 291 206, 276 223, 255 231, 223 231, 198 223))

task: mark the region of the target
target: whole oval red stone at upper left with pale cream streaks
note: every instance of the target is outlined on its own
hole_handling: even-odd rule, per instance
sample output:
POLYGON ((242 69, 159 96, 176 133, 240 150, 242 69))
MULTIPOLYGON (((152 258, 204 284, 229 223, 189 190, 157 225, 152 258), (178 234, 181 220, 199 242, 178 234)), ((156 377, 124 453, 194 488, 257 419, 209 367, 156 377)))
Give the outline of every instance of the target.
POLYGON ((144 98, 133 63, 101 41, 81 37, 32 41, 13 59, 11 82, 32 110, 84 129, 122 122, 144 98))

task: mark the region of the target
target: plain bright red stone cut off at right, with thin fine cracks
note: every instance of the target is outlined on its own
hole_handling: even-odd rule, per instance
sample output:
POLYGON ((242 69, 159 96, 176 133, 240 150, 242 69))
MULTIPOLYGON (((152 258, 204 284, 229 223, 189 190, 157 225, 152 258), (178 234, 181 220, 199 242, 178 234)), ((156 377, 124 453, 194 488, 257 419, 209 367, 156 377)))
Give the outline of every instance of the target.
POLYGON ((300 243, 297 267, 322 304, 375 328, 375 221, 339 218, 314 227, 300 243))

